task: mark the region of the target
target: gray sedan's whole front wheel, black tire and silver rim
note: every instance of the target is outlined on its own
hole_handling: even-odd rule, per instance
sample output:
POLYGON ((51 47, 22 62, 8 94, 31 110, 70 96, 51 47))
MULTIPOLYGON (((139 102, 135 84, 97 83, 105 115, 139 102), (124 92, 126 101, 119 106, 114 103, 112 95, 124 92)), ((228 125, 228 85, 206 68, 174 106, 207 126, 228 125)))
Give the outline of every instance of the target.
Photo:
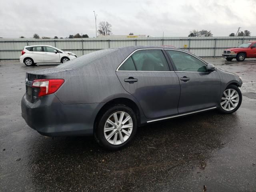
POLYGON ((235 85, 230 85, 222 94, 219 110, 223 113, 233 113, 240 107, 242 93, 235 85))

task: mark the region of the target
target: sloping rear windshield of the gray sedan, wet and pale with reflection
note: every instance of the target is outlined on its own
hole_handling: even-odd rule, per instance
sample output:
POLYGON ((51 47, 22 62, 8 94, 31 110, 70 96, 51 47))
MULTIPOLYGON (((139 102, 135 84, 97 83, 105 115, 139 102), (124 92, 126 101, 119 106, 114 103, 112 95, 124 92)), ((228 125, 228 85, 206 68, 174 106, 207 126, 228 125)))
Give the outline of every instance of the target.
POLYGON ((90 62, 94 60, 105 57, 115 52, 116 50, 117 49, 103 49, 103 50, 95 51, 95 52, 83 55, 81 57, 78 57, 76 59, 70 60, 66 63, 60 64, 56 66, 56 68, 80 68, 82 66, 86 66, 90 64, 90 62))

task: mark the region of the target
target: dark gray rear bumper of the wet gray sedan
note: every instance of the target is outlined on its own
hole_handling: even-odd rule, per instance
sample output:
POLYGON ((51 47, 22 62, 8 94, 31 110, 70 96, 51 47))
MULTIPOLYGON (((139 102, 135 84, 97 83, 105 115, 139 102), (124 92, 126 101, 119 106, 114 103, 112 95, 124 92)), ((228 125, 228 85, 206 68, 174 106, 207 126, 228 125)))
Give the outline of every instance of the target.
POLYGON ((22 117, 28 126, 51 137, 92 135, 94 120, 103 105, 64 105, 54 94, 43 96, 34 103, 28 102, 24 95, 21 101, 22 117))

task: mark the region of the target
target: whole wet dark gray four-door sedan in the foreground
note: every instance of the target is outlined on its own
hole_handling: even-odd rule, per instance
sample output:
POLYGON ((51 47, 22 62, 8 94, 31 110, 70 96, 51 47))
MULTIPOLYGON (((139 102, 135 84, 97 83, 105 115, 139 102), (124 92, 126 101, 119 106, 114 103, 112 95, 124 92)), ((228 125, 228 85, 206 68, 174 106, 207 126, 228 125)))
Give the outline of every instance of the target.
POLYGON ((235 112, 240 86, 239 76, 184 50, 113 48, 28 72, 22 117, 42 135, 94 135, 118 150, 138 126, 214 109, 235 112))

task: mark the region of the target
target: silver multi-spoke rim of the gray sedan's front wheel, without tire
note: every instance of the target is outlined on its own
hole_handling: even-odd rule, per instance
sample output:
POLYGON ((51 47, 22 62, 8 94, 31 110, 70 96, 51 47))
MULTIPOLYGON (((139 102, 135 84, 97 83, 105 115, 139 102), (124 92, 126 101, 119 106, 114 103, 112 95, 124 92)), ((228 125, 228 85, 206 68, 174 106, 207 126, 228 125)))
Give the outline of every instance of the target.
POLYGON ((226 89, 222 95, 220 106, 225 111, 231 111, 236 108, 239 103, 238 92, 234 89, 226 89))

